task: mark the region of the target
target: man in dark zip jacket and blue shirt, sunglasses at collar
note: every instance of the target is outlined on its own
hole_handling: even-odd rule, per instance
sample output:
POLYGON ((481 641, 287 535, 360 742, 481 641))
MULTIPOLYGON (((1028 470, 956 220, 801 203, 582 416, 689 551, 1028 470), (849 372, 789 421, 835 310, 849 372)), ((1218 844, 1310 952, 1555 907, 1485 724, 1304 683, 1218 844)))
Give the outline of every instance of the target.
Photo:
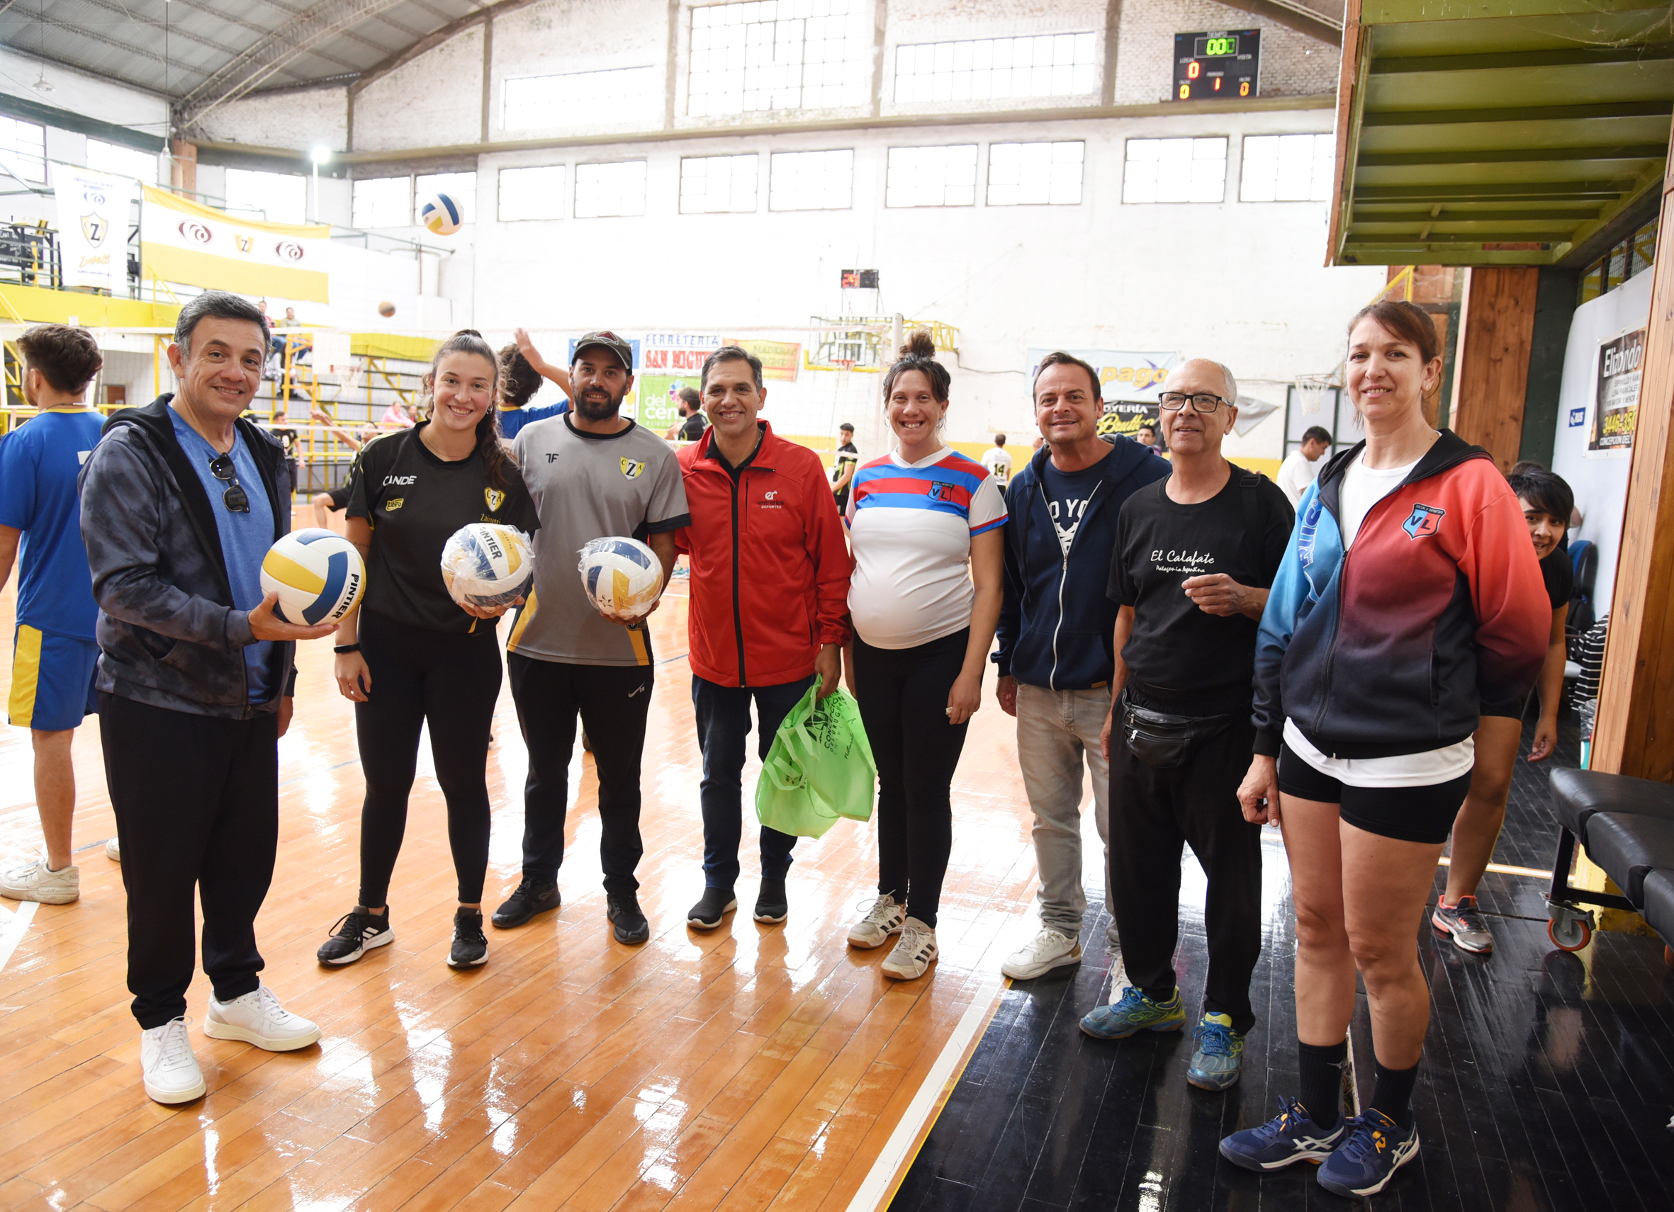
POLYGON ((179 392, 112 415, 80 475, 127 988, 146 1093, 162 1103, 204 1093, 184 1019, 194 891, 214 984, 204 1035, 270 1051, 320 1038, 261 984, 254 931, 278 845, 291 650, 336 629, 285 623, 261 591, 261 559, 291 529, 285 452, 239 415, 268 336, 236 295, 191 300, 169 347, 179 392))

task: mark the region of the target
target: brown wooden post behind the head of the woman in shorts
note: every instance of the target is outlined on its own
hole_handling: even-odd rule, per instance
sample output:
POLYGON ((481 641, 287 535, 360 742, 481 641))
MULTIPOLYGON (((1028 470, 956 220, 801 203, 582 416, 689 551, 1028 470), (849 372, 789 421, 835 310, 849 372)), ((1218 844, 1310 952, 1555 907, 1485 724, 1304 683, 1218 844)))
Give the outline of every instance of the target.
POLYGON ((1540 270, 1478 264, 1465 273, 1451 429, 1512 470, 1523 444, 1523 393, 1535 335, 1540 270))

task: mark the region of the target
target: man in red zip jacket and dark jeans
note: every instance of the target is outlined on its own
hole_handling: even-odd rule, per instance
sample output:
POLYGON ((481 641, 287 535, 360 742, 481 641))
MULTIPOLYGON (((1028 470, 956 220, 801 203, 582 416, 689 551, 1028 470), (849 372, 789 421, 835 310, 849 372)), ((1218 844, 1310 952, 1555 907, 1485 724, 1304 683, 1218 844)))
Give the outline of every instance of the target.
MULTIPOLYGON (((701 931, 738 907, 750 700, 765 758, 815 675, 820 698, 837 690, 849 641, 854 559, 825 465, 755 419, 765 402, 762 360, 723 345, 703 363, 710 429, 680 452, 691 524, 675 542, 691 557, 691 705, 703 748, 703 899, 686 924, 701 931)), ((795 844, 762 829, 758 922, 790 912, 785 874, 795 844)))

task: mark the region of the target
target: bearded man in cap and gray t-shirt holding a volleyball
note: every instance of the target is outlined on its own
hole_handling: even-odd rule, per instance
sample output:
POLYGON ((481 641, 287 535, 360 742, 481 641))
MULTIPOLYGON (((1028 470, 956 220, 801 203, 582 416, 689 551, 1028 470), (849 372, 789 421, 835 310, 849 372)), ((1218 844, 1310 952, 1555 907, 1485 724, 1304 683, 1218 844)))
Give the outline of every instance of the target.
POLYGON ((524 425, 512 445, 541 511, 541 529, 534 586, 506 641, 512 700, 529 748, 522 882, 494 911, 494 924, 522 926, 559 906, 579 713, 599 773, 606 916, 618 942, 644 942, 650 924, 639 912, 634 867, 643 854, 639 757, 651 703, 651 633, 644 618, 624 624, 593 606, 576 552, 593 539, 631 536, 663 561, 668 584, 675 531, 691 517, 675 452, 619 413, 633 388, 633 348, 611 331, 588 333, 576 343, 569 378, 574 408, 524 425))

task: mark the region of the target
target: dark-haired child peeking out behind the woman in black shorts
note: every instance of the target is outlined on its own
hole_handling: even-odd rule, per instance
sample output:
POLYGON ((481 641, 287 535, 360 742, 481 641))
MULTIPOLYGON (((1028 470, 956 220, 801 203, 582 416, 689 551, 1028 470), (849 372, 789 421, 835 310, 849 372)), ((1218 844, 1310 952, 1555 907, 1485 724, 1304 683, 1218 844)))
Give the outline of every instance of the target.
MULTIPOLYGON (((1552 633, 1547 643, 1547 660, 1540 666, 1540 720, 1535 723, 1535 740, 1528 750, 1530 762, 1552 757, 1558 743, 1558 700, 1564 696, 1565 623, 1569 621, 1570 594, 1575 591, 1575 573, 1569 552, 1564 551, 1564 531, 1569 527, 1575 494, 1560 475, 1538 464, 1522 475, 1512 469, 1508 482, 1517 502, 1523 507, 1528 536, 1540 559, 1540 579, 1547 603, 1552 606, 1552 633)), ((1430 924, 1453 939, 1453 946, 1471 954, 1493 951, 1493 932, 1488 919, 1476 907, 1476 884, 1488 869, 1500 827, 1505 824, 1505 800, 1512 792, 1512 770, 1517 765, 1517 747, 1523 738, 1523 708, 1527 695, 1505 703, 1483 703, 1481 722, 1476 725, 1476 765, 1471 768, 1470 792, 1453 822, 1453 850, 1448 862, 1448 887, 1430 914, 1430 924)))

